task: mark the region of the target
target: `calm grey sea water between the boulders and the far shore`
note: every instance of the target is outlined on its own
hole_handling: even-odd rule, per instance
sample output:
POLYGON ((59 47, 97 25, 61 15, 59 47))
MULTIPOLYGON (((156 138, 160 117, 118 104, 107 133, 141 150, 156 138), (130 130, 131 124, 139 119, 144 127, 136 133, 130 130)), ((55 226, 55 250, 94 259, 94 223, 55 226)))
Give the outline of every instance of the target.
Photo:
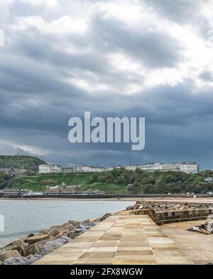
POLYGON ((107 212, 121 211, 134 204, 134 201, 118 201, 121 202, 93 199, 0 199, 0 214, 5 221, 4 231, 0 232, 0 248, 29 233, 38 233, 70 219, 82 221, 98 218, 107 212))

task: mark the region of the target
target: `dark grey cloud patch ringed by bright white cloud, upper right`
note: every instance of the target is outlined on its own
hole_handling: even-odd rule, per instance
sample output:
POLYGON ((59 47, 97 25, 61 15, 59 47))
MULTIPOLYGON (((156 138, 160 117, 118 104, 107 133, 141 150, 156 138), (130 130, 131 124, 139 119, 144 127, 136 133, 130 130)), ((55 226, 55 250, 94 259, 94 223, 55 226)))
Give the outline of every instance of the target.
POLYGON ((96 16, 92 23, 97 47, 105 51, 127 53, 151 68, 173 67, 180 60, 180 43, 168 33, 130 30, 124 22, 109 21, 103 15, 96 16))

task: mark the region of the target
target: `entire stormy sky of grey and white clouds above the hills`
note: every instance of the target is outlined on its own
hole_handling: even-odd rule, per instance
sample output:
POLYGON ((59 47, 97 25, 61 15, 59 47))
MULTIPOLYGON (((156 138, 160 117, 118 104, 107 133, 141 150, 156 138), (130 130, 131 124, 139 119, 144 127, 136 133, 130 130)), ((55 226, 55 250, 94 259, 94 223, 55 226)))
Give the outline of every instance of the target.
POLYGON ((0 154, 212 169, 212 13, 212 0, 1 0, 0 154), (84 111, 146 117, 145 148, 71 144, 84 111))

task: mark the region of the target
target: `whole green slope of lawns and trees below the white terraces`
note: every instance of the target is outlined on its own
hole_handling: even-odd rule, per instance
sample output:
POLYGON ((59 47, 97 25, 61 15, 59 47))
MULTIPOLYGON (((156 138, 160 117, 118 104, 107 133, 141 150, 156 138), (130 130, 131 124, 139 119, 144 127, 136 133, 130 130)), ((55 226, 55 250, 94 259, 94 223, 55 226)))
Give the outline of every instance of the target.
POLYGON ((36 174, 14 177, 11 187, 45 191, 46 186, 65 182, 67 185, 82 185, 83 191, 99 189, 105 193, 131 194, 206 194, 213 192, 213 183, 205 183, 204 178, 213 177, 212 171, 199 174, 182 172, 130 172, 126 169, 113 169, 101 173, 36 174))

